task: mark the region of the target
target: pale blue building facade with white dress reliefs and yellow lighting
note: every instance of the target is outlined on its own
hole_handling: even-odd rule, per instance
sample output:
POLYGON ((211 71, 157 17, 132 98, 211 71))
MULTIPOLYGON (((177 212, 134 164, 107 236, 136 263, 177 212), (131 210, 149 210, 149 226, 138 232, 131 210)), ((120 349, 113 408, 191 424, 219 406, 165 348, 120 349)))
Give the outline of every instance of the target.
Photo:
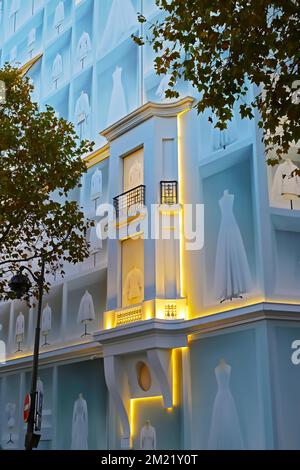
MULTIPOLYGON (((256 120, 235 112, 220 132, 188 83, 166 99, 168 76, 131 39, 141 11, 162 14, 154 0, 0 0, 1 65, 95 142, 70 198, 102 237, 45 297, 40 448, 300 449, 299 157, 268 168, 256 120)), ((35 319, 0 304, 7 449, 23 448, 35 319)))

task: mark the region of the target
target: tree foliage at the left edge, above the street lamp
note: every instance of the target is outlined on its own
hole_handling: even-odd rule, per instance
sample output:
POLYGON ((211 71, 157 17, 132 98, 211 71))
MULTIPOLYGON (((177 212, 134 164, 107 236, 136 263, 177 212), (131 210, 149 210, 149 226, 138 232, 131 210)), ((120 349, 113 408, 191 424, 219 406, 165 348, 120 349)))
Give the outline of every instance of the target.
MULTIPOLYGON (((35 274, 63 274, 63 263, 88 255, 89 222, 68 198, 86 171, 83 154, 92 144, 78 142, 73 125, 31 100, 28 78, 5 65, 0 69, 5 101, 0 104, 0 293, 20 265, 35 274)), ((45 288, 49 288, 48 282, 45 288)), ((34 289, 36 295, 37 291, 34 289)))

